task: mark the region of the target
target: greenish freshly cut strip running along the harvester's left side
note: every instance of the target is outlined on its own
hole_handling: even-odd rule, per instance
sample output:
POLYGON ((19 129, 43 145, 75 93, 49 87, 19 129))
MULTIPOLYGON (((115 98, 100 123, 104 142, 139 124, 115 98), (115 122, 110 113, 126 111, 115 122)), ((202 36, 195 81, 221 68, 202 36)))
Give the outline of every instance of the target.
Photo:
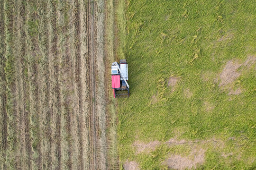
MULTIPOLYGON (((105 2, 105 42, 108 44, 105 46, 105 55, 106 55, 106 64, 105 66, 110 66, 114 61, 114 11, 115 6, 114 0, 109 0, 105 2), (112 8, 114 7, 114 8, 112 8)), ((105 67, 105 75, 111 75, 111 69, 105 67)), ((106 92, 106 128, 108 129, 107 133, 107 170, 119 170, 119 157, 117 154, 117 137, 116 137, 116 124, 117 124, 117 115, 114 110, 114 101, 111 100, 112 91, 109 87, 111 86, 111 80, 105 76, 105 92, 106 92)))

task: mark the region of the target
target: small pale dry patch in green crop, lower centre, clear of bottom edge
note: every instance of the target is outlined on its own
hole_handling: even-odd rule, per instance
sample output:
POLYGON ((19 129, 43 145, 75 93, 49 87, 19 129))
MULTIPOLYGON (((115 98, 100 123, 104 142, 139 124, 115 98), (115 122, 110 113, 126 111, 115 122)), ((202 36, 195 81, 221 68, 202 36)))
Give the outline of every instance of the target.
POLYGON ((142 153, 142 152, 150 153, 150 152, 154 151, 155 147, 158 146, 159 144, 160 144, 159 141, 153 141, 153 142, 149 142, 147 144, 140 142, 140 141, 135 141, 133 143, 133 146, 136 147, 136 154, 138 154, 138 153, 142 153))

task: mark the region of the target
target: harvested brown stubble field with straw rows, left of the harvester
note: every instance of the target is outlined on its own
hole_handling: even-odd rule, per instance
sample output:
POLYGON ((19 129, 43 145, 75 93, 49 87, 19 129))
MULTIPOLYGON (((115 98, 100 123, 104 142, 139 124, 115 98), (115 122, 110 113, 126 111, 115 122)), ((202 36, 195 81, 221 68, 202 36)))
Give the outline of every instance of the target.
POLYGON ((104 8, 0 0, 0 170, 110 169, 104 8))

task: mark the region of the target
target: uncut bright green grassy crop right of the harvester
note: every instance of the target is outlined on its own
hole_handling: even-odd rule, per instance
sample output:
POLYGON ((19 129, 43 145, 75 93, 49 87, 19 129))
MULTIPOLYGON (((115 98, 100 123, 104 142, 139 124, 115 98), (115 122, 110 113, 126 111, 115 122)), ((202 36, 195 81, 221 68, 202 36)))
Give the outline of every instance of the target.
POLYGON ((199 169, 256 169, 256 64, 244 64, 256 57, 255 1, 128 0, 126 10, 131 95, 118 99, 120 164, 167 169, 171 154, 198 147, 199 169), (230 60, 240 76, 219 86, 230 60), (201 142, 168 147, 170 138, 201 142), (154 151, 136 153, 135 141, 155 140, 154 151))

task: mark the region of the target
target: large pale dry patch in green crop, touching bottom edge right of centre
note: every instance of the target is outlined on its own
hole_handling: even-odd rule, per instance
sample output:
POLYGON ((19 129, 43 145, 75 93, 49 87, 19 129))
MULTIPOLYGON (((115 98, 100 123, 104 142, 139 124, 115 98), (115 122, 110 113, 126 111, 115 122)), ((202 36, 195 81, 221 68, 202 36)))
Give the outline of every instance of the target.
POLYGON ((168 168, 175 170, 184 169, 196 169, 198 165, 204 162, 205 150, 193 148, 188 156, 175 155, 172 154, 163 163, 168 166, 168 168))

